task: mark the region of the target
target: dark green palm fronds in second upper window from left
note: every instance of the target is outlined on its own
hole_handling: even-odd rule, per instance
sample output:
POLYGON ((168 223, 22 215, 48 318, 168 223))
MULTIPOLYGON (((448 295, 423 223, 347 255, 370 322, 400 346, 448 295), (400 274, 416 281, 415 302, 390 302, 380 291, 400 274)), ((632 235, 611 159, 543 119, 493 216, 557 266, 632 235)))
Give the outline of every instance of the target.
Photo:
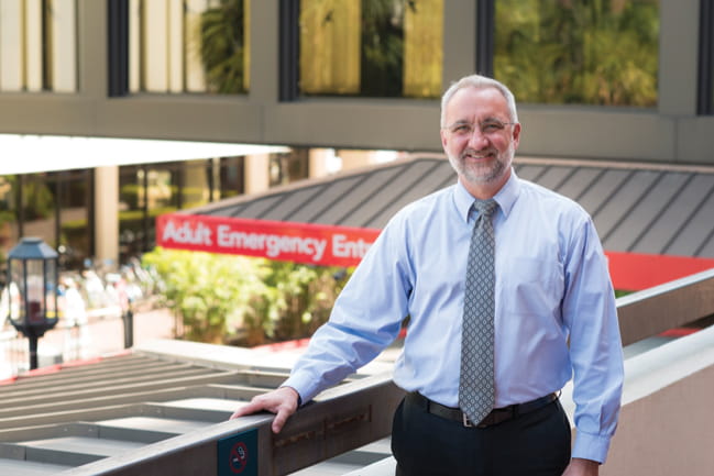
POLYGON ((243 15, 242 0, 221 0, 201 14, 201 60, 212 92, 245 92, 243 15))

